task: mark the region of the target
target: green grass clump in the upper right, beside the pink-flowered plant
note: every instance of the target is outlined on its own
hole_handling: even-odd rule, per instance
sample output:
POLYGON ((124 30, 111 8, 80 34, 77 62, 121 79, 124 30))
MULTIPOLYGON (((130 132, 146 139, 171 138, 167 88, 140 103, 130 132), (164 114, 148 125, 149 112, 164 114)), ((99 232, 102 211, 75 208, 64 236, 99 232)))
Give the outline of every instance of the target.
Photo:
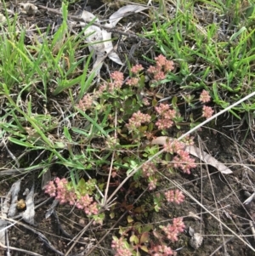
MULTIPOLYGON (((252 93, 255 41, 250 24, 254 12, 245 11, 252 5, 186 1, 167 6, 174 6, 176 12, 167 22, 156 16, 153 30, 146 36, 179 63, 178 72, 169 74, 167 81, 191 92, 206 89, 221 109, 252 93)), ((241 119, 241 113, 253 110, 253 103, 247 102, 230 112, 241 119)))

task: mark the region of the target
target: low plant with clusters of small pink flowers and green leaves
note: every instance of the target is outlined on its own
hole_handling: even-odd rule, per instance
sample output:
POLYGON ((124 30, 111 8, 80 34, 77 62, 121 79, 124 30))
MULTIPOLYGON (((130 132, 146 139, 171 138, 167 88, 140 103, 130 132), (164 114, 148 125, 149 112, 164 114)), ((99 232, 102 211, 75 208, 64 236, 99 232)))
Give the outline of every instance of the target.
MULTIPOLYGON (((145 74, 142 73, 144 68, 141 65, 134 65, 126 80, 122 72, 114 71, 109 82, 103 83, 93 93, 85 94, 76 106, 81 114, 86 114, 92 120, 97 120, 107 111, 105 126, 107 124, 108 128, 112 128, 112 132, 109 132, 105 138, 105 151, 110 151, 115 157, 111 168, 105 170, 105 174, 111 178, 111 184, 110 179, 88 179, 88 181, 79 179, 75 185, 66 179, 56 178, 45 186, 45 192, 49 196, 54 196, 61 204, 69 203, 82 209, 88 218, 94 219, 94 224, 102 225, 105 219, 102 203, 104 198, 102 198, 103 193, 99 193, 99 188, 105 190, 109 185, 120 185, 127 174, 140 164, 142 164, 141 169, 133 176, 134 182, 129 180, 128 187, 122 187, 127 194, 130 191, 134 194, 139 193, 140 189, 156 191, 162 173, 181 169, 184 173, 190 174, 190 169, 196 167, 195 160, 184 151, 187 145, 193 145, 193 138, 189 137, 182 141, 167 139, 164 145, 165 155, 157 157, 155 161, 145 162, 159 151, 158 145, 150 145, 151 139, 160 134, 167 134, 167 129, 178 127, 178 123, 184 119, 174 100, 172 105, 157 104, 156 99, 150 96, 150 89, 155 89, 158 82, 166 77, 167 72, 174 69, 173 61, 167 60, 163 55, 159 55, 155 60, 155 65, 151 65, 145 74), (148 82, 145 82, 144 76, 150 77, 148 82), (125 144, 128 148, 139 146, 141 149, 139 154, 133 154, 132 151, 125 151, 123 154, 125 144)), ((210 95, 203 90, 198 100, 207 103, 210 101, 210 95)), ((204 106, 202 116, 211 117, 212 112, 210 106, 204 106)), ((104 158, 103 164, 102 159, 93 159, 92 165, 100 169, 104 168, 107 157, 104 158)), ((183 201, 184 195, 178 190, 155 192, 152 208, 159 211, 164 202, 179 204, 183 201)), ((143 204, 144 202, 141 202, 141 205, 143 204)), ((125 207, 128 208, 127 202, 126 205, 121 204, 121 208, 125 207)), ((144 215, 152 208, 142 207, 139 215, 144 215)), ((115 210, 116 206, 111 208, 113 214, 116 214, 115 210)), ((131 208, 129 206, 128 211, 135 213, 133 206, 131 208)), ((178 234, 184 230, 181 218, 173 219, 172 225, 160 226, 161 231, 156 231, 152 225, 143 226, 133 220, 129 222, 130 225, 120 230, 120 238, 113 236, 112 248, 116 251, 116 256, 134 255, 140 249, 150 255, 172 255, 173 251, 167 247, 165 241, 167 239, 176 242, 178 234)))

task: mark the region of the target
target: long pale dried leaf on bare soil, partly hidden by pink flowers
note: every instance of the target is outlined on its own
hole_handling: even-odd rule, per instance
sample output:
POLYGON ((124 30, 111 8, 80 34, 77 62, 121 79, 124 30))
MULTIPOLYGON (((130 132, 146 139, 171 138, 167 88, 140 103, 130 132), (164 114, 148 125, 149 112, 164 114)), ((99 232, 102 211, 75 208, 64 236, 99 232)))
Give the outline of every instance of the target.
MULTIPOLYGON (((154 145, 165 145, 167 141, 173 141, 173 138, 169 138, 167 136, 160 136, 156 139, 153 139, 151 144, 154 145)), ((202 162, 206 162, 209 165, 212 165, 214 168, 217 168, 219 172, 222 174, 232 174, 233 172, 227 168, 224 163, 218 162, 213 156, 207 154, 205 151, 200 151, 198 147, 195 145, 186 146, 184 151, 190 153, 192 156, 196 156, 197 158, 201 159, 202 162)))

